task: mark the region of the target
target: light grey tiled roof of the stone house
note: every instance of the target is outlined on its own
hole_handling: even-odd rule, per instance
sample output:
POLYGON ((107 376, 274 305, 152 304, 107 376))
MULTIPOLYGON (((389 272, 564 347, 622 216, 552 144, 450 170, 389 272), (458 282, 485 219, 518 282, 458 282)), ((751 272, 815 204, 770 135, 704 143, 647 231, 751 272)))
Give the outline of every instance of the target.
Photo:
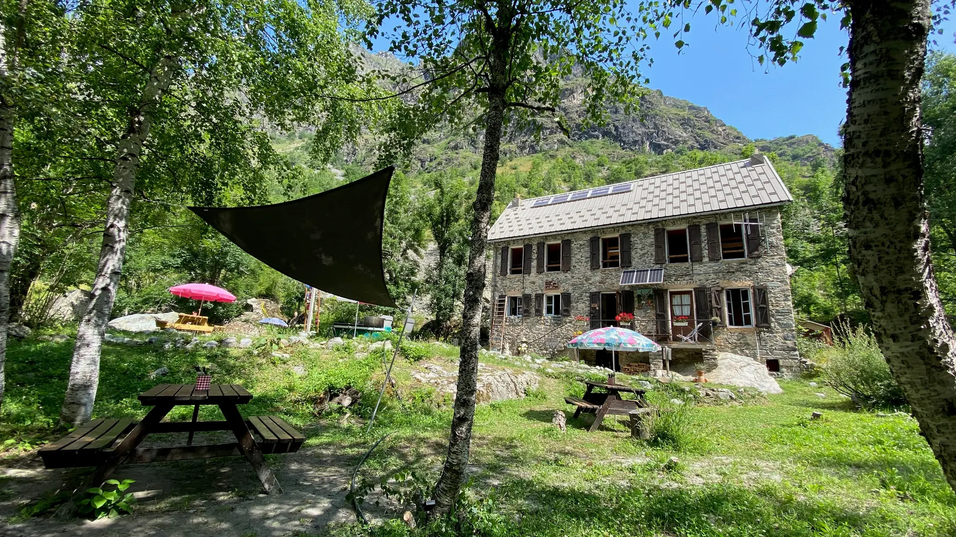
POLYGON ((787 186, 761 154, 628 183, 634 184, 628 192, 573 202, 532 207, 542 198, 515 200, 491 226, 488 238, 500 241, 793 202, 787 186))

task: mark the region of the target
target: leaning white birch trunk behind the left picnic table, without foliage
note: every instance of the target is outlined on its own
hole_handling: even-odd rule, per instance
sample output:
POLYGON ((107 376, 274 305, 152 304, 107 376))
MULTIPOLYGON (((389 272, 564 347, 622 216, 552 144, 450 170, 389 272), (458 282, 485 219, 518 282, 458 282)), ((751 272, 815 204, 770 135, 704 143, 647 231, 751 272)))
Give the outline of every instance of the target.
POLYGON ((151 116, 169 89, 177 66, 174 55, 166 54, 149 75, 139 106, 130 111, 126 132, 117 144, 113 191, 106 204, 106 227, 99 250, 97 275, 93 281, 90 305, 76 329, 76 347, 70 365, 70 380, 60 411, 60 419, 74 425, 90 419, 99 383, 99 355, 103 333, 113 311, 120 286, 123 256, 129 231, 129 207, 133 201, 136 172, 142 146, 149 137, 151 116))

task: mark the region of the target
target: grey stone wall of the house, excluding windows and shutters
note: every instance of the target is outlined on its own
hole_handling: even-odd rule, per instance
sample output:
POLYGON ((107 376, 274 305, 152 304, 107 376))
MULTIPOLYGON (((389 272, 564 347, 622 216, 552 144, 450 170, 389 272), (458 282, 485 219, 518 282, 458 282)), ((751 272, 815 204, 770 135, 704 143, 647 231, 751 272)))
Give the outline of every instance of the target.
MULTIPOLYGON (((667 342, 675 349, 674 360, 701 360, 705 354, 728 352, 743 354, 760 362, 767 359, 778 360, 781 373, 794 374, 799 367, 796 351, 793 303, 791 300, 790 277, 787 272, 787 256, 783 245, 783 229, 780 223, 780 211, 776 207, 759 211, 750 210, 750 218, 759 218, 767 225, 762 226, 761 255, 756 258, 739 260, 708 259, 706 225, 708 223, 729 224, 740 222, 743 214, 716 213, 709 215, 675 218, 667 221, 636 223, 626 226, 606 226, 588 228, 548 236, 523 237, 499 241, 492 244, 494 263, 491 265, 491 300, 499 295, 524 295, 535 293, 571 293, 570 316, 535 316, 533 304, 531 315, 507 317, 505 323, 505 345, 512 354, 517 354, 522 344, 539 354, 569 354, 564 347, 576 333, 590 330, 590 324, 576 322, 576 315, 589 315, 590 293, 593 291, 618 291, 640 289, 693 290, 695 288, 751 288, 766 286, 771 326, 769 328, 736 328, 718 326, 713 328, 713 343, 702 341, 698 345, 667 342), (675 264, 655 264, 654 229, 681 228, 689 225, 701 226, 703 261, 675 264), (620 286, 621 268, 591 269, 590 239, 593 236, 614 236, 631 233, 630 269, 663 268, 662 284, 620 286), (571 241, 571 270, 556 272, 537 272, 537 251, 534 248, 532 270, 530 274, 500 275, 501 247, 520 247, 538 242, 554 243, 568 239, 571 241), (547 289, 546 289, 547 283, 547 289), (680 352, 678 352, 680 350, 680 352), (708 351, 705 353, 705 351, 708 351)), ((626 268, 625 268, 626 269, 626 268)), ((691 295, 693 296, 693 294, 691 295)), ((636 295, 637 298, 637 295, 636 295)), ((751 291, 751 301, 752 301, 751 291)), ((532 298, 533 300, 533 298, 532 298)), ((709 292, 708 292, 709 301, 709 292)), ((652 304, 641 303, 636 299, 635 330, 641 333, 654 332, 655 311, 652 304)), ((752 309, 751 309, 752 311, 752 309)), ((710 312, 697 312, 698 318, 710 318, 710 312)), ((756 323, 754 323, 756 324, 756 323)), ((693 326, 693 323, 691 323, 693 326)), ((574 356, 574 351, 570 351, 574 356)), ((582 353, 585 359, 593 353, 582 353)), ((660 368, 660 355, 634 353, 625 355, 625 360, 649 362, 653 370, 660 368)), ((626 361, 623 363, 627 363, 626 361)))

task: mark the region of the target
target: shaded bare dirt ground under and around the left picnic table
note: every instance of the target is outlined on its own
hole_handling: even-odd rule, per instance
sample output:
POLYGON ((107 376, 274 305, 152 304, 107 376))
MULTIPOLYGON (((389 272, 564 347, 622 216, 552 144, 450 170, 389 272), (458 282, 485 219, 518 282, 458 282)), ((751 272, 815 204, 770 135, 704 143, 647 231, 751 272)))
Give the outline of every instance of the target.
MULTIPOLYGON (((154 462, 120 466, 113 477, 132 479, 141 497, 133 515, 95 522, 59 522, 31 518, 0 523, 8 537, 98 535, 128 537, 280 536, 320 533, 329 524, 354 522, 345 501, 352 458, 321 448, 272 456, 272 470, 285 493, 268 496, 245 459, 154 462)), ((0 468, 0 520, 7 521, 28 503, 76 483, 76 469, 48 470, 38 458, 0 468)), ((371 505, 369 505, 371 507, 371 505)), ((369 513, 383 515, 384 511, 369 513)))

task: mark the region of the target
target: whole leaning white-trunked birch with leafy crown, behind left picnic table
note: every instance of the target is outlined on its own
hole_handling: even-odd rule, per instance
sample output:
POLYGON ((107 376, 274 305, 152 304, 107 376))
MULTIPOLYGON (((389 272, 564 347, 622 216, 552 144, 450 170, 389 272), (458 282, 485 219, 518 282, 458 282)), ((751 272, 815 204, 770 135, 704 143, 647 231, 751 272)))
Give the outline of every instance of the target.
POLYGON ((374 115, 370 105, 317 97, 377 92, 360 81, 348 49, 349 29, 366 9, 360 2, 294 0, 76 6, 65 54, 73 112, 86 118, 82 136, 89 143, 64 150, 94 162, 90 175, 105 176, 111 191, 63 421, 81 423, 93 411, 135 199, 146 192, 194 204, 257 198, 265 170, 280 161, 266 122, 280 129, 317 125, 316 156, 331 157, 374 115))

